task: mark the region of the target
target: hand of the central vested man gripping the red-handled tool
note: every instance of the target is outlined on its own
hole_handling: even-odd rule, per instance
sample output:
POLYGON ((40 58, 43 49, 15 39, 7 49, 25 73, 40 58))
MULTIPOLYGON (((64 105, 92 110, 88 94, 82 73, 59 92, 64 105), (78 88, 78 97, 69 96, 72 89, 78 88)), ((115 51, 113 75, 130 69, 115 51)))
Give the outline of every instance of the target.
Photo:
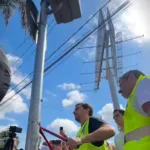
POLYGON ((72 148, 78 148, 82 144, 81 138, 68 138, 67 144, 72 148))

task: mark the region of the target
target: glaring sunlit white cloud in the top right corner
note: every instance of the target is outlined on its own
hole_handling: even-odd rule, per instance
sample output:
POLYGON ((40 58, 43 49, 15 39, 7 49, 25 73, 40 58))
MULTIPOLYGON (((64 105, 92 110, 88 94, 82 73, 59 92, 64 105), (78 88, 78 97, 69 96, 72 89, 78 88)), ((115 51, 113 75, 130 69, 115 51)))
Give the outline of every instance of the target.
MULTIPOLYGON (((117 8, 125 0, 111 1, 110 10, 117 8)), ((124 38, 143 35, 144 41, 150 38, 149 0, 131 0, 132 5, 114 20, 116 32, 122 31, 124 38)), ((140 39, 141 40, 141 39, 140 39)), ((137 39, 136 41, 139 41, 137 39)))

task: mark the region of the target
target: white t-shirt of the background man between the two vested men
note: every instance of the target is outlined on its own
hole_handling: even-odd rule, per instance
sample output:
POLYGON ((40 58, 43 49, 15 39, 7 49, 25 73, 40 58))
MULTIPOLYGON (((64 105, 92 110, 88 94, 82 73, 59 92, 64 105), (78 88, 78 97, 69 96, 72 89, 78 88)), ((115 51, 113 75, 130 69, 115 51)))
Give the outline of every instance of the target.
POLYGON ((116 136, 115 136, 115 147, 116 150, 123 150, 124 146, 124 133, 120 131, 116 136))

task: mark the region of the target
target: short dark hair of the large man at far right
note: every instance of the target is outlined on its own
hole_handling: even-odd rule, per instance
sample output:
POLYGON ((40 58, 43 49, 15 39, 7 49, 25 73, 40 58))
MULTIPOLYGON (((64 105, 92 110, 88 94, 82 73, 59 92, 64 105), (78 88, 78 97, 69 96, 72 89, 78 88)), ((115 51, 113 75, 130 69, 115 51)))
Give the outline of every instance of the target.
POLYGON ((130 70, 126 72, 120 79, 128 79, 130 74, 133 74, 136 79, 138 79, 141 75, 145 76, 145 74, 139 70, 130 70))

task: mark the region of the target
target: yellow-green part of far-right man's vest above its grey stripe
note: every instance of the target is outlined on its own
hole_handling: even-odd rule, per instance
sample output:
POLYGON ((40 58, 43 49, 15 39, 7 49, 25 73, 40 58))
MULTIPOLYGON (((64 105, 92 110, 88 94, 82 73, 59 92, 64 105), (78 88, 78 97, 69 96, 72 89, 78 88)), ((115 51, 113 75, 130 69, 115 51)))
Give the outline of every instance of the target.
POLYGON ((150 78, 146 76, 140 76, 136 82, 136 85, 128 98, 128 103, 126 111, 124 114, 124 133, 130 133, 136 129, 142 128, 144 126, 150 126, 150 118, 148 116, 143 116, 136 112, 133 108, 133 103, 136 100, 136 88, 141 80, 144 78, 150 78))

